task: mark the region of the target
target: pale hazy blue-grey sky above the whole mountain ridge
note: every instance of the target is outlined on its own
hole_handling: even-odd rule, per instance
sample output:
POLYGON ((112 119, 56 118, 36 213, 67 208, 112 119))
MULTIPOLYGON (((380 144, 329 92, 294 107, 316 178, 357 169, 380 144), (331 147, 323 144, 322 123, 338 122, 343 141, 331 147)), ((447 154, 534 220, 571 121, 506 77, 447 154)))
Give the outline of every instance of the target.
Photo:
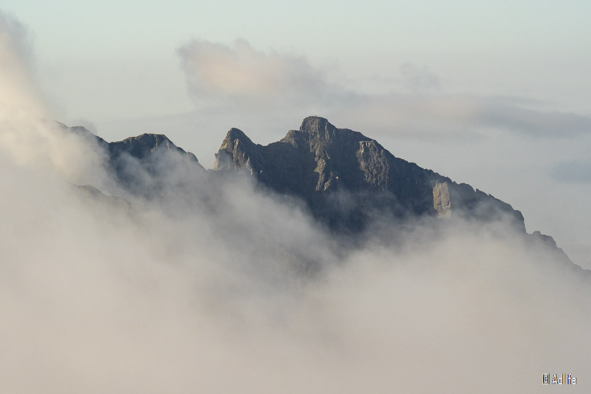
POLYGON ((267 144, 323 115, 508 201, 591 268, 588 0, 4 0, 1 11, 30 31, 62 122, 108 140, 166 133, 210 167, 230 127, 267 144), (220 70, 239 94, 207 84, 220 70))

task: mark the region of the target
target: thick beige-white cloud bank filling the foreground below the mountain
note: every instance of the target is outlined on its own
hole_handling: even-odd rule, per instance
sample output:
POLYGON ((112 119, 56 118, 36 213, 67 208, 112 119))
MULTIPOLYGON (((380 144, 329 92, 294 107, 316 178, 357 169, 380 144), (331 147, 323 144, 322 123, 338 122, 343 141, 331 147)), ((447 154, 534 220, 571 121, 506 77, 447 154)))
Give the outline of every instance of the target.
POLYGON ((3 391, 588 390, 588 283, 505 224, 351 248, 246 180, 127 207, 0 163, 3 391))

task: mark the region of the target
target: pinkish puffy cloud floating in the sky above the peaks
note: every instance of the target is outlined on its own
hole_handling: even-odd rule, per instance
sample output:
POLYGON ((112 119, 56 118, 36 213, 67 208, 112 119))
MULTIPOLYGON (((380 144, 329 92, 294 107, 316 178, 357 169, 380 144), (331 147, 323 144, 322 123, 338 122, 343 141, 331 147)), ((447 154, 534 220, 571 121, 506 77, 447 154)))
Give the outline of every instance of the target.
POLYGON ((309 106, 323 102, 331 87, 322 71, 303 57, 265 53, 239 39, 228 46, 194 40, 178 50, 189 93, 198 105, 220 99, 224 105, 309 106))

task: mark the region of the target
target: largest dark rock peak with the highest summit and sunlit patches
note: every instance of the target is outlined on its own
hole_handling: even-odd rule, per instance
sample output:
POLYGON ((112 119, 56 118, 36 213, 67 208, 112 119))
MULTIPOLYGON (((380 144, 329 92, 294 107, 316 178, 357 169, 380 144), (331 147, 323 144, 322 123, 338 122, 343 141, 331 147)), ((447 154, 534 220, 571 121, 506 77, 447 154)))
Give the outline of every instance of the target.
POLYGON ((424 215, 506 216, 525 231, 523 216, 509 204, 394 157, 374 139, 317 116, 267 146, 231 129, 213 169, 246 172, 278 193, 301 197, 317 219, 345 232, 363 230, 374 216, 424 215))

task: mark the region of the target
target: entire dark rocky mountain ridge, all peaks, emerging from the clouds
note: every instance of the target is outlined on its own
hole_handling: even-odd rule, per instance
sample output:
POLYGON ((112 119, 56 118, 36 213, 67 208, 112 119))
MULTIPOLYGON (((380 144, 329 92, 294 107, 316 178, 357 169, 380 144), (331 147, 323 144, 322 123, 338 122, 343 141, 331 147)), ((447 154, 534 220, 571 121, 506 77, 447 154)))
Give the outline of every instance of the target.
MULTIPOLYGON (((184 170, 206 174, 191 152, 174 145, 163 134, 145 133, 106 142, 83 127, 59 125, 64 132, 96 144, 106 158, 106 169, 132 195, 157 194, 167 187, 163 179, 179 163, 184 170), (146 174, 151 182, 140 179, 146 174)), ((509 204, 397 158, 374 139, 336 128, 318 116, 304 119, 299 130, 288 131, 280 141, 267 146, 255 144, 239 129, 230 129, 215 157, 213 170, 207 171, 214 180, 209 185, 229 180, 226 175, 230 174, 252 177, 276 193, 300 198, 319 222, 336 233, 355 236, 376 218, 504 220, 523 233, 528 242, 591 277, 591 272, 570 262, 552 237, 540 232, 527 234, 521 212, 509 204)), ((199 189, 199 185, 194 186, 199 189)), ((83 190, 91 195, 100 193, 92 186, 83 190)), ((118 204, 122 205, 121 201, 118 204)))

